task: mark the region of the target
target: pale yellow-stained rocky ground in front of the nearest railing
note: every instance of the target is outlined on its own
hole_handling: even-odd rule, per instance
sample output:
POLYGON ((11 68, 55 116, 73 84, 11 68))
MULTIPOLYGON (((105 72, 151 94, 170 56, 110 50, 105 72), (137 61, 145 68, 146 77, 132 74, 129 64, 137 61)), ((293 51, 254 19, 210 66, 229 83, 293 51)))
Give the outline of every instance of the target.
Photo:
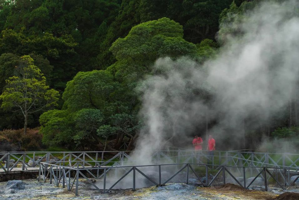
POLYGON ((162 187, 145 187, 136 189, 114 189, 108 194, 101 194, 79 181, 79 196, 75 196, 74 189, 55 187, 53 184, 41 183, 35 180, 23 180, 25 190, 14 194, 4 192, 6 183, 0 182, 1 200, 299 200, 299 193, 285 192, 281 195, 273 192, 246 190, 234 184, 215 187, 197 187, 184 183, 168 183, 162 187))

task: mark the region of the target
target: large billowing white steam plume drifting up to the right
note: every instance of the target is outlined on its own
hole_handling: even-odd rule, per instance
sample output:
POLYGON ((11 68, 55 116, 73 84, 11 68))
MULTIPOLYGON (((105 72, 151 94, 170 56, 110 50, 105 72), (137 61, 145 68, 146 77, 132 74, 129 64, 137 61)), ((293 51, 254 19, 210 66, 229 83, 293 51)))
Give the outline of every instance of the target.
MULTIPOLYGON (((273 116, 279 118, 297 93, 299 18, 294 8, 299 8, 297 1, 260 4, 238 19, 240 34, 226 35, 216 58, 202 66, 188 58, 158 59, 158 75, 139 88, 144 91, 140 114, 146 127, 135 160, 144 163, 167 141, 179 143, 207 122, 216 147, 225 140, 242 147, 245 126, 254 131, 273 116)), ((221 27, 236 29, 236 23, 221 27)))

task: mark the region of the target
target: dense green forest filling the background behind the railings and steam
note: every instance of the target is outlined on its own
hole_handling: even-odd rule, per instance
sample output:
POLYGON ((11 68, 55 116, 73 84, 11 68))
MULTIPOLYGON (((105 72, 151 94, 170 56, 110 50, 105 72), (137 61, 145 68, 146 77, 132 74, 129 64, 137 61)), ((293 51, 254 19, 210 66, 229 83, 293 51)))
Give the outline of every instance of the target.
MULTIPOLYGON (((226 35, 242 34, 222 24, 259 2, 0 0, 0 149, 134 149, 144 126, 136 88, 165 73, 153 71, 155 61, 213 59, 226 35)), ((206 91, 186 95, 195 93, 213 101, 206 91)), ((279 118, 255 128, 247 120, 239 148, 298 136, 297 99, 294 92, 279 118)), ((215 123, 207 119, 190 137, 215 123)))

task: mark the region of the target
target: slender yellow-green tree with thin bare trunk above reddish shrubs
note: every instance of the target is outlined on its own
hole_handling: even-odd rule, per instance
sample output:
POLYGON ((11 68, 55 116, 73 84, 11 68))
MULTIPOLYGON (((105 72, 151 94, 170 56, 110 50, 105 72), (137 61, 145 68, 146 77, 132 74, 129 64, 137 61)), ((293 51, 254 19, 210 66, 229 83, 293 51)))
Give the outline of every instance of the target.
POLYGON ((7 86, 0 99, 1 108, 13 109, 24 116, 24 134, 27 132, 28 115, 56 106, 58 92, 49 89, 46 78, 40 69, 33 64, 30 56, 21 57, 22 61, 16 67, 16 74, 6 80, 7 86))

